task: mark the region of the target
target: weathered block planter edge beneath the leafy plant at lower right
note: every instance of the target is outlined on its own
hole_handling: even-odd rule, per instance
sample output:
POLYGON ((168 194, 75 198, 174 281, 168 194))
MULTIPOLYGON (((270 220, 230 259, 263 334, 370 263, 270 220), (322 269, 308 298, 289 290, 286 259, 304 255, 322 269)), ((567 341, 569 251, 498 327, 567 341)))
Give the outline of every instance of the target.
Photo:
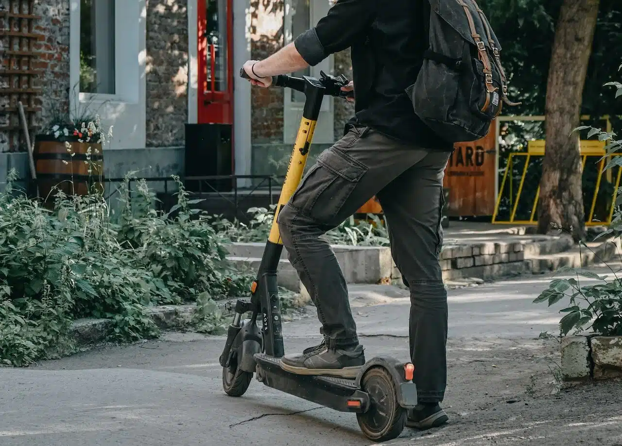
POLYGON ((562 339, 562 379, 565 386, 622 380, 622 336, 587 334, 562 339))

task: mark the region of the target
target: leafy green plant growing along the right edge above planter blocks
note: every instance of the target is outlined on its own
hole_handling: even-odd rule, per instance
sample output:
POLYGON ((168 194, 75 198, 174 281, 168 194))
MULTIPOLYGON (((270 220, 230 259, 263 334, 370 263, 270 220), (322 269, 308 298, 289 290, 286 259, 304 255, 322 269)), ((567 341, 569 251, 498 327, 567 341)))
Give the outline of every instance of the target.
MULTIPOLYGON (((622 70, 622 65, 620 66, 622 70)), ((616 98, 622 96, 622 83, 609 82, 605 86, 616 88, 616 98)), ((605 132, 603 129, 582 125, 573 130, 579 132, 588 130, 587 137, 597 137, 600 141, 607 142, 605 146, 606 155, 612 156, 604 170, 611 168, 622 168, 622 139, 616 139, 615 132, 605 132)), ((622 193, 616 196, 613 204, 613 221, 610 227, 598 237, 608 236, 613 239, 620 239, 622 236, 622 193)), ((583 243, 583 247, 587 247, 583 243)), ((622 257, 621 257, 622 259, 622 257)), ((547 302, 549 306, 567 299, 568 306, 561 310, 565 313, 560 321, 560 334, 565 336, 570 332, 581 332, 592 329, 596 334, 604 336, 622 335, 622 274, 621 270, 614 270, 607 265, 613 275, 613 280, 607 276, 599 276, 591 271, 574 270, 573 268, 561 268, 562 271, 573 271, 576 278, 555 279, 549 284, 549 288, 542 291, 534 302, 547 302), (590 278, 598 280, 600 283, 593 285, 583 285, 580 278, 590 278)))

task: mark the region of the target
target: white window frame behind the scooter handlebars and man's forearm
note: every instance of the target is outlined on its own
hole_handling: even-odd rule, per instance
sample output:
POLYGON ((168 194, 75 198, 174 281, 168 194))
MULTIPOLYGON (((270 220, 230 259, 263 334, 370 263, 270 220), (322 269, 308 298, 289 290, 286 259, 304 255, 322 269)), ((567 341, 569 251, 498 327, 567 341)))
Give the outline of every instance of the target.
MULTIPOLYGON (((328 10, 332 4, 328 0, 309 0, 309 23, 311 26, 317 25, 317 22, 322 19, 322 17, 328 14, 328 10)), ((292 0, 284 0, 284 21, 283 21, 283 29, 284 29, 284 44, 294 40, 292 36, 292 0)), ((333 55, 328 56, 323 61, 318 63, 315 66, 311 66, 309 70, 309 75, 314 78, 320 77, 320 71, 324 71, 327 74, 333 72, 334 66, 334 58, 333 55)), ((334 114, 333 114, 333 103, 334 98, 332 96, 325 96, 322 101, 322 106, 320 107, 320 120, 318 120, 318 126, 326 127, 320 130, 320 132, 315 132, 315 137, 313 138, 314 142, 318 143, 327 143, 333 142, 333 125, 334 125, 334 114), (319 122, 321 121, 321 122, 319 122), (329 122, 330 121, 330 122, 329 122)), ((293 138, 290 135, 290 128, 295 126, 296 128, 299 125, 299 121, 290 122, 291 117, 302 115, 302 110, 304 109, 304 102, 292 101, 292 94, 287 91, 284 94, 284 142, 290 143, 293 138), (292 113, 293 112, 293 113, 292 113)), ((317 129, 318 130, 318 129, 317 129)), ((295 134, 294 134, 295 137, 295 134)))

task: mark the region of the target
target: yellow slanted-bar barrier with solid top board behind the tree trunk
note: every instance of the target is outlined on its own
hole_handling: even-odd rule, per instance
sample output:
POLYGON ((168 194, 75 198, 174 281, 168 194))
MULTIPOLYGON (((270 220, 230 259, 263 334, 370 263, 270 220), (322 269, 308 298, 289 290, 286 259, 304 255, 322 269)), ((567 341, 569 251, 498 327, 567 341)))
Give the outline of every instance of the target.
MULTIPOLYGON (((594 190, 594 195, 592 197, 592 206, 590 207, 590 214, 588 216, 587 222, 585 222, 586 225, 602 225, 602 224, 606 224, 609 225, 611 224, 611 219, 613 218, 613 209, 615 208, 615 201, 616 198, 618 196, 618 188, 620 186, 620 178, 622 176, 622 167, 620 167, 618 169, 618 175, 616 177, 616 182, 615 182, 615 186, 614 186, 614 193, 613 193, 613 198, 611 201, 611 209, 610 209, 610 213, 608 216, 607 221, 602 222, 602 221, 592 221, 593 217, 594 217, 594 209, 596 207, 596 198, 598 197, 598 191, 600 190, 600 183, 603 177, 603 168, 605 167, 605 160, 610 159, 611 157, 616 157, 616 156, 621 156, 622 153, 611 153, 610 155, 607 155, 606 151, 605 151, 605 141, 595 141, 595 140, 582 140, 581 141, 581 155, 582 155, 582 170, 585 169, 585 163, 587 162, 587 157, 601 157, 600 160, 600 166, 598 169, 598 177, 596 179, 596 188, 594 190)), ((494 204, 494 212, 493 212, 493 224, 522 224, 522 225, 535 225, 536 222, 534 222, 534 216, 536 215, 536 208, 537 208, 537 204, 538 204, 538 199, 540 198, 540 186, 538 185, 538 188, 536 189, 536 198, 534 198, 534 204, 531 208, 531 217, 529 218, 529 220, 516 220, 516 209, 518 209, 518 203, 521 199, 521 193, 522 193, 522 186, 524 185, 525 182, 525 177, 527 175, 527 168, 529 167, 529 160, 531 160, 531 157, 542 157, 544 156, 544 140, 535 140, 535 141, 529 141, 528 145, 527 145, 527 152, 517 152, 517 153, 510 153, 509 154, 509 158, 508 158, 508 166, 506 168, 506 171, 503 174, 503 180, 501 180, 501 186, 499 187, 499 193, 497 195, 497 199, 496 199, 496 203, 494 204), (514 157, 527 157, 527 159, 525 160, 525 166, 522 169, 522 175, 521 175, 521 181, 518 185, 518 192, 516 193, 516 201, 514 201, 513 206, 512 206, 512 202, 513 202, 513 193, 512 193, 512 189, 513 189, 513 181, 510 180, 509 183, 509 188, 510 188, 510 206, 512 206, 512 212, 510 215, 510 218, 508 221, 498 221, 497 220, 497 216, 499 213, 499 206, 501 204, 501 196, 502 196, 502 192, 506 183, 506 180, 508 178, 508 172, 512 171, 513 169, 513 158, 514 157)), ((611 176, 612 173, 610 170, 607 171, 607 175, 608 175, 608 181, 611 181, 611 179, 613 179, 613 177, 611 176)))

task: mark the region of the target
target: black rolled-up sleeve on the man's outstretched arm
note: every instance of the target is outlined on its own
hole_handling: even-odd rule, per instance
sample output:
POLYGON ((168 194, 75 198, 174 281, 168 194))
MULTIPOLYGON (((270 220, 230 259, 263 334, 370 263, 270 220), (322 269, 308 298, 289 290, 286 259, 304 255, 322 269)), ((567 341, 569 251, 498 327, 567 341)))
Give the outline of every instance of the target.
POLYGON ((309 65, 352 46, 374 15, 376 0, 338 0, 315 27, 300 34, 294 45, 309 65))

